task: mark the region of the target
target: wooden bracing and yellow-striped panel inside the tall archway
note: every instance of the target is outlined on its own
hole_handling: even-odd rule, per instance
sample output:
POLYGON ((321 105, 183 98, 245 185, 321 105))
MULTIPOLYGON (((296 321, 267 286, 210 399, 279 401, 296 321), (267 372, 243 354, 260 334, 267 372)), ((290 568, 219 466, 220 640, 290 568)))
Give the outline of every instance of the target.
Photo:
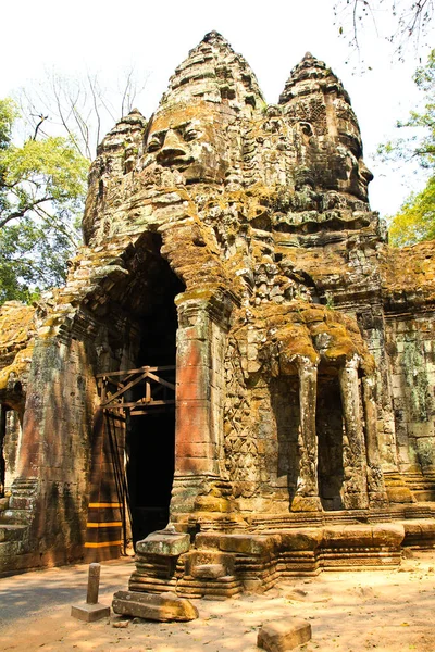
POLYGON ((94 438, 85 548, 88 561, 117 557, 130 537, 126 428, 132 416, 175 408, 175 366, 141 366, 97 375, 99 426, 94 438))

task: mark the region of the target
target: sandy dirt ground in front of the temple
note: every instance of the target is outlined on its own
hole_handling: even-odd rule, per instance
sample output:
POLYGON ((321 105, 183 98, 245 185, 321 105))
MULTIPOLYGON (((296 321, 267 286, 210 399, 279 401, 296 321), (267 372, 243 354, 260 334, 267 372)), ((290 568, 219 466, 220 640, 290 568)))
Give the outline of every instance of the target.
MULTIPOLYGON (((115 568, 119 588, 126 588, 132 566, 129 563, 122 572, 115 568)), ((23 590, 34 581, 37 592, 42 581, 47 589, 53 578, 59 581, 63 577, 62 572, 54 568, 1 579, 0 593, 20 602, 13 588, 23 590)), ((113 568, 102 566, 102 578, 110 572, 113 574, 113 568)), ((80 573, 84 584, 86 567, 80 573)), ((110 591, 103 588, 100 594, 104 604, 110 604, 112 580, 110 591)), ((4 597, 1 601, 0 616, 4 597)), ((263 623, 298 616, 312 627, 312 640, 299 648, 306 652, 435 652, 435 551, 413 553, 397 570, 323 573, 315 578, 283 581, 263 595, 196 600, 195 604, 200 617, 191 623, 136 623, 112 615, 85 624, 70 616, 71 603, 47 606, 42 597, 33 613, 3 622, 0 650, 253 652, 263 623)))

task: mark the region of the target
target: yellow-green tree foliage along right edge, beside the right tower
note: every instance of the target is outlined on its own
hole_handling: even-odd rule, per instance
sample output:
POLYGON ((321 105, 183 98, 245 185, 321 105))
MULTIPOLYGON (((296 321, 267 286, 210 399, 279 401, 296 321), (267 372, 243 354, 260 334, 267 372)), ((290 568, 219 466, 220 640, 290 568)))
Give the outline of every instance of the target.
POLYGON ((411 195, 391 220, 389 235, 396 246, 435 238, 435 50, 427 64, 417 70, 414 82, 424 93, 424 110, 412 111, 408 121, 399 122, 397 126, 417 131, 417 135, 380 148, 384 159, 417 161, 430 175, 425 188, 411 195))

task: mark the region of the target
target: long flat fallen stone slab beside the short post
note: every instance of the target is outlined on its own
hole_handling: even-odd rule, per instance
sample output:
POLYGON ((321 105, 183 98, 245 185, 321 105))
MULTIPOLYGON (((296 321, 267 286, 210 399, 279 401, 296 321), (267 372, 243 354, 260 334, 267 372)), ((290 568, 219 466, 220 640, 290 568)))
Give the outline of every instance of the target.
POLYGON ((139 591, 117 591, 113 595, 112 609, 115 614, 145 618, 146 620, 186 622, 198 618, 198 610, 186 598, 175 593, 142 593, 139 591))

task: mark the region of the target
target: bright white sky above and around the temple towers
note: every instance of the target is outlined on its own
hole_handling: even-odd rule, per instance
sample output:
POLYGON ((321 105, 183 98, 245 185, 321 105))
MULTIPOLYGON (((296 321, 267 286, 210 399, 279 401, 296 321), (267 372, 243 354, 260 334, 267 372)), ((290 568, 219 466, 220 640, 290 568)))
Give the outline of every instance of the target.
MULTIPOLYGON (((269 102, 277 102, 290 70, 311 51, 343 80, 359 118, 364 159, 375 174, 370 186, 373 210, 394 213, 422 178, 407 181, 372 160, 381 141, 396 135, 394 125, 415 108, 419 95, 411 75, 419 64, 391 63, 391 50, 375 30, 361 34, 362 52, 373 70, 352 74, 349 49, 334 26, 333 0, 15 0, 1 9, 0 97, 44 76, 101 71, 113 77, 135 64, 149 72, 145 93, 136 102, 146 115, 157 108, 174 68, 207 32, 216 29, 241 53, 256 73, 269 102)), ((388 27, 388 15, 377 27, 388 27)), ((431 39, 430 39, 431 40, 431 39)), ((432 34, 432 41, 435 39, 432 34)), ((428 50, 422 49, 423 62, 428 50)), ((110 128, 110 125, 109 125, 110 128)))

